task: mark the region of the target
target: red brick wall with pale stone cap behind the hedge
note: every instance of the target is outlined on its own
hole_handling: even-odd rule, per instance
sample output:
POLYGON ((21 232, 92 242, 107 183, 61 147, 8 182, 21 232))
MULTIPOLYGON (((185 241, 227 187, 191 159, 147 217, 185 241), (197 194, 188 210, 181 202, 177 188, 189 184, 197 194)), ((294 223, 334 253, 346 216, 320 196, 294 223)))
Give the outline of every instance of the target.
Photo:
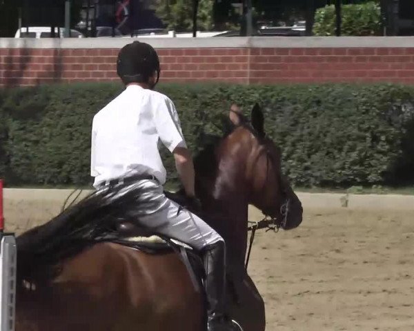
MULTIPOLYGON (((414 83, 414 39, 378 38, 146 41, 159 52, 163 81, 414 83)), ((22 40, 0 41, 1 86, 117 80, 117 53, 130 42, 22 40)))

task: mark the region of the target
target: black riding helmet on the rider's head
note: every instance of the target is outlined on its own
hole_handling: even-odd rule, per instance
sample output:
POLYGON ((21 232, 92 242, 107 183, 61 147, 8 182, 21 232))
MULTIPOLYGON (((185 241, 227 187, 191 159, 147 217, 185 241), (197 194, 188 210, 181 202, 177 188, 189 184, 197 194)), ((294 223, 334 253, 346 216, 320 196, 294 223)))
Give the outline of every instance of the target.
MULTIPOLYGON (((158 83, 159 59, 157 52, 148 43, 134 41, 121 48, 117 59, 117 74, 124 84, 128 83, 148 83, 154 71, 157 70, 158 83)), ((151 88, 154 88, 151 86, 151 88)))

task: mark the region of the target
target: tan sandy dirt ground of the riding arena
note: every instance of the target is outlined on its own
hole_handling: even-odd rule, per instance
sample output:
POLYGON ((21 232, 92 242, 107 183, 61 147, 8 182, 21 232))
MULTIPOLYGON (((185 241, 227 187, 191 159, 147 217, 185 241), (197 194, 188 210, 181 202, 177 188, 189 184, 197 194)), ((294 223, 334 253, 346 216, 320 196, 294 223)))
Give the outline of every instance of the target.
MULTIPOLYGON (((8 230, 42 223, 60 207, 6 201, 8 230)), ((296 230, 258 232, 249 273, 266 302, 266 330, 414 330, 413 239, 414 208, 308 209, 296 230)))

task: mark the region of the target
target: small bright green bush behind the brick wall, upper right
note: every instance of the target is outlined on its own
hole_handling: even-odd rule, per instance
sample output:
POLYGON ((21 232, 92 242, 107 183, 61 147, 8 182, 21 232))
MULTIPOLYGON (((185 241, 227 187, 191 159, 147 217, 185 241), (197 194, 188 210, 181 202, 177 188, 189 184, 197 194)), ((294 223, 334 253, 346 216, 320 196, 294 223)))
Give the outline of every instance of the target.
MULTIPOLYGON (((381 8, 378 1, 342 6, 342 36, 381 35, 381 8)), ((335 6, 325 6, 315 12, 313 34, 335 36, 335 6)))

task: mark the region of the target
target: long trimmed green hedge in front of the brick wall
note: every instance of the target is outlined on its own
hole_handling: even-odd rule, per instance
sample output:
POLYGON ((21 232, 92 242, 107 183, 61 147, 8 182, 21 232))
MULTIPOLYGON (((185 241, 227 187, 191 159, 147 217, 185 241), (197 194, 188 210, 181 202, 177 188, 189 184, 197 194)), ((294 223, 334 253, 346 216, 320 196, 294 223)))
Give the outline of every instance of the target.
MULTIPOLYGON (((0 177, 8 185, 86 185, 93 115, 117 83, 13 88, 0 92, 0 177)), ((164 85, 188 145, 221 133, 230 102, 246 114, 262 103, 266 130, 282 148, 295 185, 346 186, 413 181, 414 88, 398 85, 164 85)), ((120 115, 121 116, 121 115, 120 115)), ((172 180, 172 158, 164 149, 172 180), (167 157, 168 156, 168 157, 167 157)))

